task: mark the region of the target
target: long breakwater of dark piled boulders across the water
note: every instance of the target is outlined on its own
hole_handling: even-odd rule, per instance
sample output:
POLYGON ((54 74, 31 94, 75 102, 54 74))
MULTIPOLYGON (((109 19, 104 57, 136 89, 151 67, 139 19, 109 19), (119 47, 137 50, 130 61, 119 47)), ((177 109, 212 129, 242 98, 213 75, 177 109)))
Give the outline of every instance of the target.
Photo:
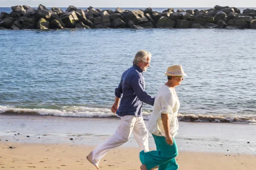
POLYGON ((168 8, 163 12, 145 10, 101 10, 89 7, 86 10, 69 6, 38 9, 29 6, 12 6, 12 12, 1 12, 0 29, 64 29, 64 28, 226 28, 256 29, 256 9, 218 6, 206 10, 168 8))

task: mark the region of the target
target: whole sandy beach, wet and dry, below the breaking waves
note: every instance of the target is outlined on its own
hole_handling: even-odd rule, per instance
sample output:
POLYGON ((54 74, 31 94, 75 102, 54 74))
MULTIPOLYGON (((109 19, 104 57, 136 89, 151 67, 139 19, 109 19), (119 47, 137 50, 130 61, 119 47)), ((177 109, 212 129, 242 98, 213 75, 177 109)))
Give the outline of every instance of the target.
MULTIPOLYGON (((94 170, 86 156, 111 136, 119 119, 0 115, 0 168, 94 170), (11 147, 11 148, 10 148, 11 147), (13 147, 13 148, 12 148, 13 147)), ((145 121, 147 124, 147 121, 145 121)), ((254 170, 255 125, 180 122, 180 170, 254 170)), ((154 150, 154 141, 149 137, 154 150)), ((100 162, 103 170, 139 170, 133 136, 100 162)))

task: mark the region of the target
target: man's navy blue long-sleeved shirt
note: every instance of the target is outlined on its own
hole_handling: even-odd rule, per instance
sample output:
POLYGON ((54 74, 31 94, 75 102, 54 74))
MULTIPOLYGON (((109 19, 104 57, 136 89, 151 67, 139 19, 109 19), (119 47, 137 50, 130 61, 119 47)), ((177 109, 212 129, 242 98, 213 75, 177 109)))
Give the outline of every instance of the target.
POLYGON ((121 98, 116 114, 118 116, 134 115, 142 116, 143 102, 154 105, 155 97, 145 92, 145 80, 142 70, 138 65, 128 68, 123 74, 118 88, 115 89, 115 96, 121 98))

